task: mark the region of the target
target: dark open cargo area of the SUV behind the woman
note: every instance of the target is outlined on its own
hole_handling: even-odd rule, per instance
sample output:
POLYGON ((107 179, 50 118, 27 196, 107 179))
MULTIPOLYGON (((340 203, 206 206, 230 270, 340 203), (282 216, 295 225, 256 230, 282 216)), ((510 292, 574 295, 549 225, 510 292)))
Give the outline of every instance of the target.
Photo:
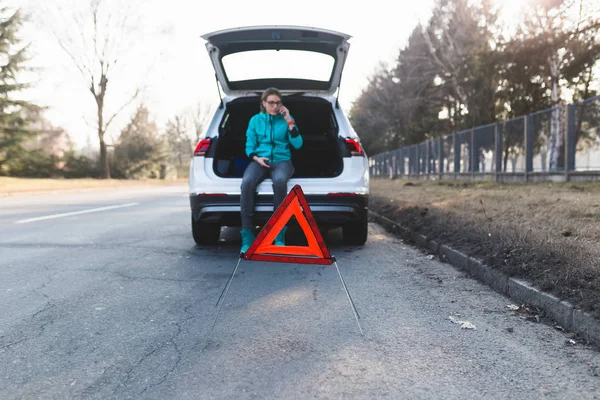
MULTIPOLYGON (((331 103, 319 97, 284 96, 302 134, 301 149, 292 149, 293 178, 330 178, 343 170, 346 146, 338 137, 331 103)), ((250 160, 245 153, 246 129, 259 111, 260 97, 243 97, 229 102, 219 126, 214 151, 214 172, 223 178, 241 178, 250 160)))

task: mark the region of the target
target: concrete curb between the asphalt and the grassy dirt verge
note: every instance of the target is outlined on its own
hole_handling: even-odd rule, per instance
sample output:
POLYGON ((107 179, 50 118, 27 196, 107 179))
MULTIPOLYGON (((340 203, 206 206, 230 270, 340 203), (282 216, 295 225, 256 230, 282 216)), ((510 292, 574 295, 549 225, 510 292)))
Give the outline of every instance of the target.
POLYGON ((445 244, 430 240, 426 236, 416 232, 411 232, 409 229, 400 226, 383 215, 369 210, 369 217, 402 239, 412 240, 419 247, 429 250, 440 259, 447 260, 455 267, 468 272, 495 291, 510 297, 520 304, 527 304, 544 310, 546 315, 565 330, 576 332, 588 342, 600 346, 600 321, 590 314, 576 309, 572 304, 561 301, 551 294, 534 288, 531 284, 521 279, 511 278, 445 244))

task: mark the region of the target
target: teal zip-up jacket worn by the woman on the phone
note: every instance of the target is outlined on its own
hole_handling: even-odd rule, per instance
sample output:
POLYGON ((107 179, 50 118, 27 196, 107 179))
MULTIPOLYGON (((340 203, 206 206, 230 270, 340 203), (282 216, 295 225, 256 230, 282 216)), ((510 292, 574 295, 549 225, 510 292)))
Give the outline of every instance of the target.
POLYGON ((299 149, 302 143, 298 128, 294 125, 290 131, 287 121, 279 114, 261 112, 250 118, 246 131, 246 155, 250 159, 267 157, 272 163, 291 160, 290 145, 299 149))

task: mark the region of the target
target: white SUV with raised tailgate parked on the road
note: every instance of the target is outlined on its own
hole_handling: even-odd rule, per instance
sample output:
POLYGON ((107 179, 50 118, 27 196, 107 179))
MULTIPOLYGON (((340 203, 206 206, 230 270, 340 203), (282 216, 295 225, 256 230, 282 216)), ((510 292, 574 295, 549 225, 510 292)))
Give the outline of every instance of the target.
MULTIPOLYGON (((369 168, 356 132, 339 106, 349 35, 298 26, 258 26, 202 36, 225 96, 202 135, 190 165, 192 234, 214 244, 221 226, 240 226, 240 186, 250 160, 246 129, 260 95, 276 87, 302 134, 292 151, 298 184, 319 229, 341 226, 346 244, 367 240, 369 168)), ((221 92, 219 92, 221 93, 221 92)), ((273 213, 270 179, 258 186, 254 222, 273 213)))

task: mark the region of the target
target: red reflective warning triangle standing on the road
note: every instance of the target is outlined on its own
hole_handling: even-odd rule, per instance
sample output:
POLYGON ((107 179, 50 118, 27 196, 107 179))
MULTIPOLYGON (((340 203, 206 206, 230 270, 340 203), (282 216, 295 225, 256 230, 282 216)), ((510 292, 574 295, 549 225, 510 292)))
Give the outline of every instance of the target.
POLYGON ((244 260, 295 264, 333 264, 333 258, 329 254, 327 246, 325 246, 325 241, 299 185, 294 186, 277 207, 277 210, 244 254, 244 260), (292 217, 296 217, 306 236, 308 246, 274 246, 275 237, 292 217))

